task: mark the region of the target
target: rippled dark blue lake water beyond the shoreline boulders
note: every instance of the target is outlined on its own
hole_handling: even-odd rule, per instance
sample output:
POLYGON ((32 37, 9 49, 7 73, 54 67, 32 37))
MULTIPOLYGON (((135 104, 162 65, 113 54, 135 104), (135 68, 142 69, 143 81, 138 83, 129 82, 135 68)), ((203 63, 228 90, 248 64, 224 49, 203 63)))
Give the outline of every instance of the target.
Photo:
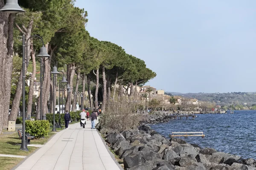
POLYGON ((256 111, 234 111, 234 114, 197 114, 192 120, 170 120, 150 125, 161 135, 172 132, 204 132, 205 137, 180 137, 200 147, 212 147, 218 151, 256 159, 256 111))

